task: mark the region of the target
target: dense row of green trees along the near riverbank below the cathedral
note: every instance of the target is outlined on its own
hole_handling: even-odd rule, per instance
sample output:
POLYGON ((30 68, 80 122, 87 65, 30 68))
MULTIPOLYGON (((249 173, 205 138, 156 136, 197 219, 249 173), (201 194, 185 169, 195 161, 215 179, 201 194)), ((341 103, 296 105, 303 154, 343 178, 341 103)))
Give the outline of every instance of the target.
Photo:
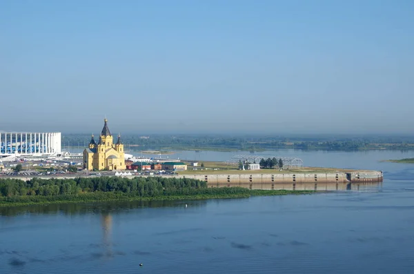
POLYGON ((78 177, 74 179, 0 179, 0 197, 77 195, 80 193, 114 192, 155 197, 185 195, 194 189, 207 188, 206 182, 188 178, 165 177, 78 177))

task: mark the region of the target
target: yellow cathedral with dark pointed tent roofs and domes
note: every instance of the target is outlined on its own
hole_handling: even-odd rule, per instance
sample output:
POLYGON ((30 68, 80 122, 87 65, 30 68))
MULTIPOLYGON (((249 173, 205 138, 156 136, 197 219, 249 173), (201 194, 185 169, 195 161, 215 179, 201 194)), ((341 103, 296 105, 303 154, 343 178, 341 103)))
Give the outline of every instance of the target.
POLYGON ((117 143, 113 143, 112 135, 108 128, 108 120, 99 136, 98 144, 92 135, 89 147, 83 150, 83 168, 88 170, 125 170, 124 144, 118 135, 117 143))

